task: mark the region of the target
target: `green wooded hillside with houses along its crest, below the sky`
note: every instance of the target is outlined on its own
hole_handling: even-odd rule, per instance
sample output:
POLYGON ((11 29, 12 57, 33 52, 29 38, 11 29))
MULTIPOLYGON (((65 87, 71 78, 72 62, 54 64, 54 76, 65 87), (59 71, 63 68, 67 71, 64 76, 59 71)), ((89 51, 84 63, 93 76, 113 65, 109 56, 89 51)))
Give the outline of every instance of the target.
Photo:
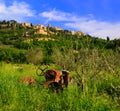
POLYGON ((82 49, 119 52, 120 39, 110 40, 107 37, 104 40, 80 31, 74 32, 50 25, 18 23, 15 20, 0 21, 0 61, 29 63, 35 61, 29 58, 29 53, 39 52, 42 57, 35 64, 49 64, 54 62, 52 54, 55 49, 61 53, 70 49, 74 54, 82 49))

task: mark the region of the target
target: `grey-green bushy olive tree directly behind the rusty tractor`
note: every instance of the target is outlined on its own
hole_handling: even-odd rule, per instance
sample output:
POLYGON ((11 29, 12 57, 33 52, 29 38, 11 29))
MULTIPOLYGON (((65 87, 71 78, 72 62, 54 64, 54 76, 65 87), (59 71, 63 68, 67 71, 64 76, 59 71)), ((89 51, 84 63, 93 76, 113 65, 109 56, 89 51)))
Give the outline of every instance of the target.
POLYGON ((74 50, 63 48, 61 52, 55 48, 52 53, 52 59, 54 64, 60 66, 62 69, 73 70, 75 65, 75 54, 74 50))

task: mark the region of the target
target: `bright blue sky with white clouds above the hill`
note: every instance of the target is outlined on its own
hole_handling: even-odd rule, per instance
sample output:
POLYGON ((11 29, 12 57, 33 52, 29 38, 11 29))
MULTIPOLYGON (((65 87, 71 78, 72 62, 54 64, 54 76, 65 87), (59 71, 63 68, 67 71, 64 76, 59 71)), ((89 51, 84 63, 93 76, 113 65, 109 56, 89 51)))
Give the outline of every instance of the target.
POLYGON ((51 24, 120 38, 120 0, 0 0, 0 20, 51 24))

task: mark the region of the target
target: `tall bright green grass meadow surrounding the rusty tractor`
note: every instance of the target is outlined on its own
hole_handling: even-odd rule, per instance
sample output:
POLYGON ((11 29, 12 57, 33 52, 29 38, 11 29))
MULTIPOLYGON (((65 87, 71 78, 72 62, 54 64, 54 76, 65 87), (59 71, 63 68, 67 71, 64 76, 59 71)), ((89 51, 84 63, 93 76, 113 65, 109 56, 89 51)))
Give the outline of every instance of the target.
MULTIPOLYGON (((55 66, 52 66, 55 68, 55 66)), ((36 75, 33 64, 0 62, 0 111, 119 111, 120 68, 116 75, 100 73, 97 79, 86 79, 84 89, 69 83, 62 93, 53 93, 39 83, 44 77, 36 75), (22 77, 34 77, 38 84, 19 83, 22 77)), ((88 72, 92 72, 89 70, 88 72)), ((70 75, 75 75, 74 71, 70 75)))

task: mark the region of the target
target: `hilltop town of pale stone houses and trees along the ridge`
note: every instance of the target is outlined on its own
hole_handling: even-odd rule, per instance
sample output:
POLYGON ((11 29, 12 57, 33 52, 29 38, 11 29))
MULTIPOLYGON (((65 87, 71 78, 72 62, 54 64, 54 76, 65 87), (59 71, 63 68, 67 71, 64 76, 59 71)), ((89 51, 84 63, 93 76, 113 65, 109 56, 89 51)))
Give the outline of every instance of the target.
MULTIPOLYGON (((10 20, 10 21, 1 21, 0 22, 0 29, 5 29, 5 28, 12 28, 12 29, 16 29, 16 28, 26 28, 26 29, 33 29, 34 32, 32 34, 43 34, 43 35, 51 35, 51 34, 57 34, 59 32, 64 32, 66 34, 71 34, 71 35, 79 35, 82 36, 84 35, 84 33, 82 31, 73 31, 73 30, 64 30, 61 27, 55 26, 52 27, 50 24, 48 24, 47 26, 44 26, 42 24, 32 24, 29 22, 22 22, 22 23, 18 23, 15 20, 10 20)), ((23 36, 29 36, 30 35, 30 31, 26 30, 23 33, 23 36)))

